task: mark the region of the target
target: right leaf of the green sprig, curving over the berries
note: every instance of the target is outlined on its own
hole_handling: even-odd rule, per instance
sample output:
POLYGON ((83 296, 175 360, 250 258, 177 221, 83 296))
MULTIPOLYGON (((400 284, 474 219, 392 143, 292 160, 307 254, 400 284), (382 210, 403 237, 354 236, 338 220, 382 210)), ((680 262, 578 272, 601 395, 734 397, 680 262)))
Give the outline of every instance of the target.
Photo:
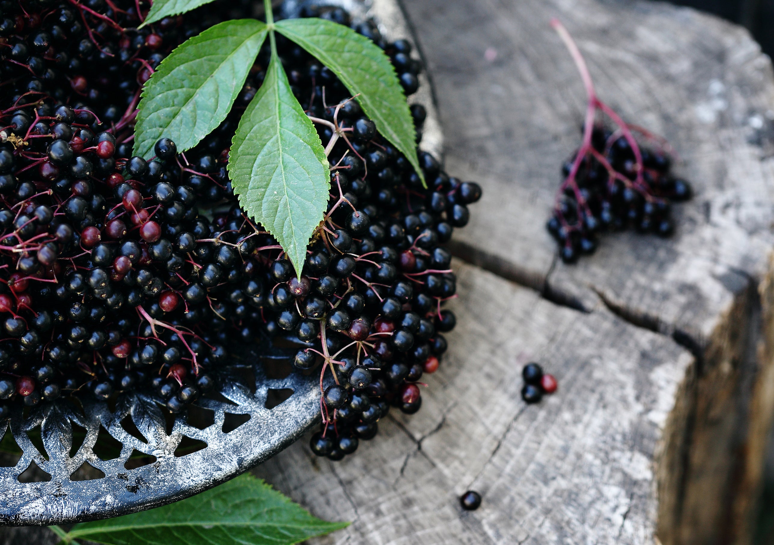
POLYGON ((333 70, 351 94, 360 94, 365 115, 425 183, 406 95, 385 52, 349 27, 325 19, 285 19, 276 22, 276 29, 333 70))

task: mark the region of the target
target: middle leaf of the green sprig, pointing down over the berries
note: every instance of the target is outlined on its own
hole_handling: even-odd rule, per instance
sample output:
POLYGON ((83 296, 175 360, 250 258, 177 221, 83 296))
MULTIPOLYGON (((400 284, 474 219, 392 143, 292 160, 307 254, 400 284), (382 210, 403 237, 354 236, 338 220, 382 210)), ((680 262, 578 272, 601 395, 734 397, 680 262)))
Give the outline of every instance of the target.
POLYGON ((327 206, 330 170, 277 55, 239 121, 228 173, 241 206, 274 235, 300 276, 327 206))

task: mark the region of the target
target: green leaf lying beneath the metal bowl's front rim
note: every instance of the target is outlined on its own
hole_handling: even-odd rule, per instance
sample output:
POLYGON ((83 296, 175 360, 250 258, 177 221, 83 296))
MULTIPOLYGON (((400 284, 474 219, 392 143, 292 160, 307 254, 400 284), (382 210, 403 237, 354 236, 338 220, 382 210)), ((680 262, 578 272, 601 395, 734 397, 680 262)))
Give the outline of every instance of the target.
POLYGON ((242 475, 168 506, 76 524, 68 540, 108 545, 280 545, 348 526, 327 523, 252 475, 242 475))

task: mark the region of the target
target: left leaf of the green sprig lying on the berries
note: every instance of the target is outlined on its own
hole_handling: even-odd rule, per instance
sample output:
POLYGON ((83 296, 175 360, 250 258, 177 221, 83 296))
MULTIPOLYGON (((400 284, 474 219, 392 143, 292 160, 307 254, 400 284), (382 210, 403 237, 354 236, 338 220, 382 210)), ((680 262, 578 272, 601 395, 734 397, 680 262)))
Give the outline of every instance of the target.
POLYGON ((258 56, 266 26, 221 22, 177 46, 142 91, 134 153, 148 159, 162 136, 190 149, 226 118, 258 56))

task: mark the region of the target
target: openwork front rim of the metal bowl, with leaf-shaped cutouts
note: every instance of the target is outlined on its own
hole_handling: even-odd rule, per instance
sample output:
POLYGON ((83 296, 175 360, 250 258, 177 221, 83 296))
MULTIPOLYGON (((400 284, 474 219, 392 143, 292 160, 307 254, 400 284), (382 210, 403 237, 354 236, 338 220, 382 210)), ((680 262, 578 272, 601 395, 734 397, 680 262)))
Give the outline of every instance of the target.
POLYGON ((0 523, 51 525, 149 509, 194 495, 270 458, 300 437, 320 413, 319 377, 291 372, 284 379, 269 379, 259 362, 261 358, 288 361, 296 350, 297 347, 252 351, 248 357, 255 362, 249 366, 255 374, 254 386, 241 379, 235 368, 221 373, 217 391, 222 398, 202 397, 194 403, 214 413, 214 423, 204 429, 190 425, 187 412, 183 412, 176 416, 168 434, 163 402, 150 392, 120 396, 115 410, 108 403, 86 396, 79 399, 81 407, 69 399, 60 399, 34 407, 26 417, 17 408, 10 420, 0 426, 5 434, 10 425, 22 449, 22 457, 14 467, 0 468, 0 523), (267 409, 269 389, 292 389, 293 394, 267 409), (224 433, 227 413, 248 415, 249 420, 224 433), (122 426, 127 417, 145 441, 122 426), (70 456, 74 424, 84 428, 86 436, 70 456), (46 456, 27 434, 38 427, 46 456), (103 460, 94 454, 92 449, 100 427, 122 444, 118 458, 103 460), (183 437, 203 441, 207 447, 176 456, 183 437), (150 454, 156 461, 139 468, 125 468, 135 451, 150 454), (50 481, 19 482, 19 475, 33 462, 51 476, 50 481), (71 480, 70 476, 84 462, 105 476, 71 480))

